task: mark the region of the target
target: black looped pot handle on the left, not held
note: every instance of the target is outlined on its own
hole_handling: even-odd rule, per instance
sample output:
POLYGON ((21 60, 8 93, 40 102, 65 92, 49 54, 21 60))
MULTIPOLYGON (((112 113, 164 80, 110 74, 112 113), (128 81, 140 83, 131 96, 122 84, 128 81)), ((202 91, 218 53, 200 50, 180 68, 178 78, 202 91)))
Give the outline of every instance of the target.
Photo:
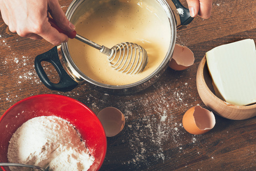
POLYGON ((49 89, 67 92, 78 86, 78 83, 75 82, 75 80, 67 74, 62 64, 60 63, 58 49, 56 46, 51 50, 35 57, 35 71, 44 86, 49 89), (41 62, 43 61, 50 62, 55 67, 56 71, 59 74, 59 83, 52 83, 51 80, 48 78, 41 64, 41 62))

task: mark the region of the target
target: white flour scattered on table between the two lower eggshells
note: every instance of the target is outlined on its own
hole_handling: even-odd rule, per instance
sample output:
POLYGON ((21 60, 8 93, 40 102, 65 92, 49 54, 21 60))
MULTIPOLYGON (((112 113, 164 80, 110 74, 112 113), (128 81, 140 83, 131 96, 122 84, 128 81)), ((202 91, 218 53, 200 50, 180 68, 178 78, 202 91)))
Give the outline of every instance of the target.
MULTIPOLYGON (((178 79, 172 80, 172 82, 178 82, 178 79)), ((120 155, 124 155, 124 157, 119 160, 118 157, 114 157, 117 156, 116 153, 113 155, 111 151, 108 151, 105 161, 120 161, 121 165, 129 167, 131 170, 144 170, 156 163, 166 162, 172 158, 173 152, 170 152, 170 146, 177 155, 181 156, 188 153, 187 144, 184 142, 192 146, 200 144, 198 141, 200 136, 188 135, 182 126, 182 120, 180 120, 180 115, 193 107, 194 103, 191 101, 198 100, 190 95, 191 89, 195 89, 190 84, 191 82, 192 80, 189 78, 186 82, 179 84, 178 88, 177 86, 170 86, 168 83, 156 82, 153 84, 155 88, 152 92, 145 91, 146 93, 135 99, 117 96, 113 104, 110 105, 119 108, 124 113, 126 125, 120 133, 124 137, 120 141, 127 145, 128 153, 124 155, 123 151, 120 150, 120 155), (143 112, 137 112, 138 108, 140 108, 139 111, 143 112), (181 113, 177 115, 174 111, 181 113)), ((97 112, 109 105, 111 98, 112 95, 95 91, 83 97, 84 100, 82 101, 92 111, 97 112)), ((118 137, 113 139, 118 141, 118 137)), ((113 141, 109 142, 108 145, 113 145, 113 141)), ((178 162, 178 160, 173 162, 178 162)))

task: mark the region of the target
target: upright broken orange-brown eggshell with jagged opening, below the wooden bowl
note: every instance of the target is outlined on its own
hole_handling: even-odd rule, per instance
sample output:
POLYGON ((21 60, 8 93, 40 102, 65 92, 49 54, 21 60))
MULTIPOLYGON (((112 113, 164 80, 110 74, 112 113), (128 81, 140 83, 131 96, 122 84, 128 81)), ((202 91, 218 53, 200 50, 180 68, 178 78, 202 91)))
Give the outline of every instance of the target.
POLYGON ((182 119, 184 129, 193 135, 200 135, 210 131, 215 123, 213 112, 199 105, 188 109, 182 119))

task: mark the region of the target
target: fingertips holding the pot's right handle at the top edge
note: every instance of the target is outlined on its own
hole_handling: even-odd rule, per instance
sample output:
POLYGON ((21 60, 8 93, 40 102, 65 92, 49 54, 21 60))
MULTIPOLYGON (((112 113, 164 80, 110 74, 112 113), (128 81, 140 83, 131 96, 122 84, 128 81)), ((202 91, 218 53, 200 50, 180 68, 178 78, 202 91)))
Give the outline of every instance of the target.
POLYGON ((197 15, 201 18, 208 19, 212 12, 212 0, 186 0, 188 3, 191 17, 197 15))

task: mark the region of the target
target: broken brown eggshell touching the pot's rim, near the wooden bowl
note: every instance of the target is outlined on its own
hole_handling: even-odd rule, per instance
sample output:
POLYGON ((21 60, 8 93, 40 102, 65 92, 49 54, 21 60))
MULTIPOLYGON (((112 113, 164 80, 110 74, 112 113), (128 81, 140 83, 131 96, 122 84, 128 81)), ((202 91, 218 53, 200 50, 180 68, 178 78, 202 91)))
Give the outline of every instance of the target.
POLYGON ((194 53, 186 46, 175 44, 169 67, 176 71, 186 70, 194 64, 194 53))

